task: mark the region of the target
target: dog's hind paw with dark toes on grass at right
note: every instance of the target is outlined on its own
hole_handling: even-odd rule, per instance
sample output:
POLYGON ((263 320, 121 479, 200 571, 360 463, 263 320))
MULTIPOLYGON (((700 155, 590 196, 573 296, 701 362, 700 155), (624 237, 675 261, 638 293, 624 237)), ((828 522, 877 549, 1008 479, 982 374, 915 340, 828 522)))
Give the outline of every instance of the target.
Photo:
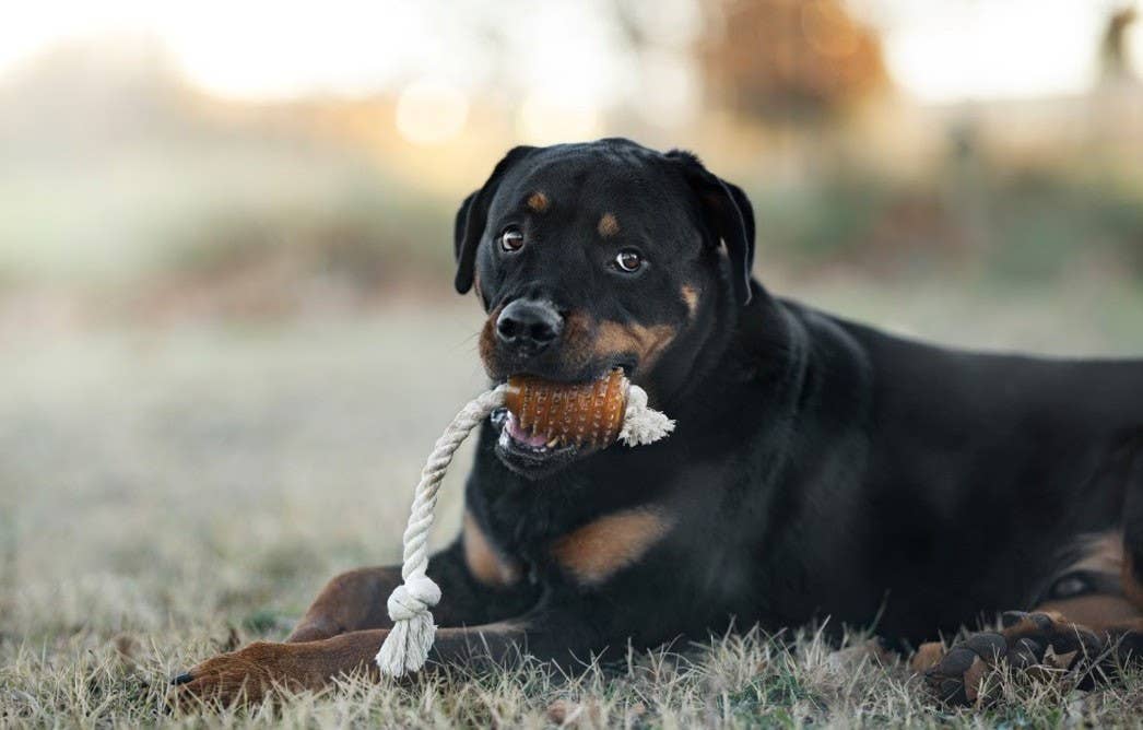
POLYGON ((925 683, 941 701, 970 705, 985 699, 988 680, 1005 667, 1033 679, 1078 671, 1082 673, 1080 685, 1089 684, 1087 669, 1104 652, 1106 642, 1056 615, 1009 611, 999 632, 973 634, 943 656, 935 647, 940 644, 921 647, 914 669, 924 671, 925 683))

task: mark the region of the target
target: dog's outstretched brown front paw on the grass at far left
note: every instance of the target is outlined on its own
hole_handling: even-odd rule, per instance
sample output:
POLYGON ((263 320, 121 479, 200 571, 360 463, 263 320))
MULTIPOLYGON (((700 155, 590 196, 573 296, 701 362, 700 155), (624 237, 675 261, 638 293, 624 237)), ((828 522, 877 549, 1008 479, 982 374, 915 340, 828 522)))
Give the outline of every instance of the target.
POLYGON ((275 688, 315 689, 295 653, 289 644, 256 642, 207 659, 171 681, 170 705, 177 708, 206 701, 229 706, 262 701, 275 688))

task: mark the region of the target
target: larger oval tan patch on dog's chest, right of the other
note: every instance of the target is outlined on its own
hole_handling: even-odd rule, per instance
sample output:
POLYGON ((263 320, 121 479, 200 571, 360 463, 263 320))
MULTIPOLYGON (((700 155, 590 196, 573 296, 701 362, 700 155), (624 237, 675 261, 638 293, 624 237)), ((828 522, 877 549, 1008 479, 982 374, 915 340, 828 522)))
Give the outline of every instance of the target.
POLYGON ((624 510, 560 537, 552 555, 581 584, 598 585, 646 555, 672 524, 662 510, 624 510))

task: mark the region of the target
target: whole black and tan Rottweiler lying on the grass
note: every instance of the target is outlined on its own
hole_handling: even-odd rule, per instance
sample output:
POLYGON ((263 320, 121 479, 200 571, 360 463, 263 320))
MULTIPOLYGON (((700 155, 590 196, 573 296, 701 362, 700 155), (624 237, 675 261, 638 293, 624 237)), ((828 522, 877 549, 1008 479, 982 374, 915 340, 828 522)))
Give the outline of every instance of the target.
MULTIPOLYGON (((957 352, 772 297, 742 191, 624 139, 512 150, 455 243, 494 382, 621 367, 678 430, 585 452, 489 419, 463 532, 429 569, 432 659, 574 663, 826 616, 917 645, 1042 611, 919 653, 965 700, 998 659, 1138 645, 1143 361, 957 352)), ((334 578, 287 643, 210 659, 176 691, 373 671, 399 579, 334 578)))

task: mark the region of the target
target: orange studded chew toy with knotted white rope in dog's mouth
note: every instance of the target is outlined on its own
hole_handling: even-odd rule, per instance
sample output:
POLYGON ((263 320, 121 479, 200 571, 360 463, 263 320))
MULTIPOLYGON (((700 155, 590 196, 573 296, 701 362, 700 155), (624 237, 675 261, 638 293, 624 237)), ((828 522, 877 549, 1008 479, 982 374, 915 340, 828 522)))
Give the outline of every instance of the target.
POLYGON ((413 498, 402 538, 403 583, 393 589, 387 603, 393 628, 375 659, 386 676, 416 672, 429 658, 437 633, 430 609, 440 601, 440 587, 425 573, 437 491, 464 439, 489 414, 505 406, 509 416, 526 432, 547 436, 547 443, 553 446, 606 447, 620 440, 634 447, 658 441, 674 430, 674 422, 649 408, 647 393, 632 385, 618 368, 593 383, 513 376, 465 406, 437 440, 413 498))

